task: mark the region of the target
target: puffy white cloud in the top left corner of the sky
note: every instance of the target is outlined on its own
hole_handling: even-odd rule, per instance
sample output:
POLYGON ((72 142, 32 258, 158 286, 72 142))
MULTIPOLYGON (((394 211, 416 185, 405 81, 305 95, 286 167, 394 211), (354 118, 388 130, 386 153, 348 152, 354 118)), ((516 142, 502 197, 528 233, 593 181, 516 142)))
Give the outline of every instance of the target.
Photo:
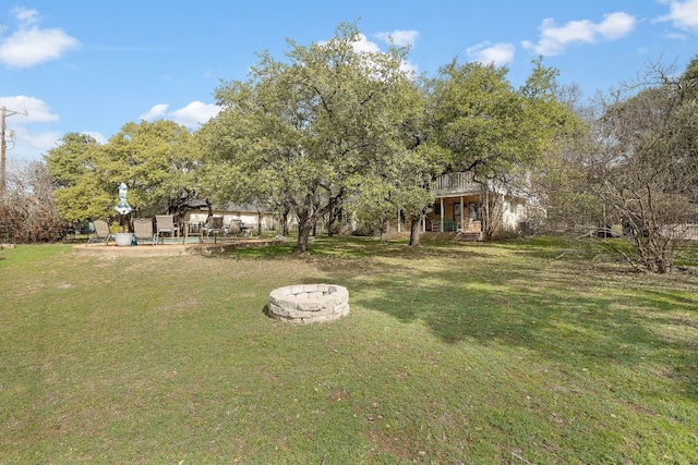
POLYGON ((38 27, 38 12, 34 9, 16 8, 12 13, 20 22, 20 27, 0 47, 0 62, 9 66, 29 68, 57 60, 80 45, 77 39, 59 28, 38 27))

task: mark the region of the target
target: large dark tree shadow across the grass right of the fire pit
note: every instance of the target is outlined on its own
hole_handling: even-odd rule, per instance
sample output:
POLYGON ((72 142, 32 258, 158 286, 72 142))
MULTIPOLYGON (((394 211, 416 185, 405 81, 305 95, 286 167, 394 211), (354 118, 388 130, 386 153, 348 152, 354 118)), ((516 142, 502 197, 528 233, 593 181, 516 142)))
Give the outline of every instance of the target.
POLYGON ((626 268, 559 250, 556 243, 408 247, 325 238, 305 256, 284 244, 230 257, 310 260, 326 278, 293 283, 345 285, 351 305, 420 321, 446 343, 525 347, 571 366, 634 367, 671 354, 674 378, 697 399, 696 298, 657 283, 630 292, 626 281, 635 273, 626 268))

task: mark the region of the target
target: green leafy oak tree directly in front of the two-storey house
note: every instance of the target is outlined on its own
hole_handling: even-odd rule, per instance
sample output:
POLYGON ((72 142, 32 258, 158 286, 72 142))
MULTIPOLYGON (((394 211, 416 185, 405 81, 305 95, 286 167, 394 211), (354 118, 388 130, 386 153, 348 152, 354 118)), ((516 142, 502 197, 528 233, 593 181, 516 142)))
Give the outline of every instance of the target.
POLYGON ((557 74, 539 59, 516 88, 506 66, 454 60, 431 82, 431 144, 443 173, 472 172, 481 183, 486 237, 498 223, 502 195, 532 194, 530 173, 578 124, 556 96, 557 74))

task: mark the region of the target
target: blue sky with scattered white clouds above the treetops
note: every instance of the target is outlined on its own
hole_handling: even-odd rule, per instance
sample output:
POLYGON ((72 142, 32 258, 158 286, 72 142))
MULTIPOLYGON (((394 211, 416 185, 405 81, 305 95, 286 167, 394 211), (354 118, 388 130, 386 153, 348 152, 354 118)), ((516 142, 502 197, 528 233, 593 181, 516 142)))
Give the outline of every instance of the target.
POLYGON ((106 142, 156 118, 196 129, 255 52, 281 59, 287 38, 326 40, 340 22, 357 23, 358 48, 409 45, 406 66, 428 76, 457 57, 507 65, 518 86, 543 56, 586 97, 698 53, 698 0, 10 0, 0 22, 0 107, 20 112, 7 119, 9 167, 69 132, 106 142))

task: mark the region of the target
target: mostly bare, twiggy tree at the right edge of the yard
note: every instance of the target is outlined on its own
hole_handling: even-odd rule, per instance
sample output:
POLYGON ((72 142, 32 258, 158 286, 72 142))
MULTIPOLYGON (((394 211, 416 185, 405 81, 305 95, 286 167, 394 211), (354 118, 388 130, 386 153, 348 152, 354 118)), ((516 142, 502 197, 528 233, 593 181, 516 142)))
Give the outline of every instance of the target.
POLYGON ((597 120, 590 186, 633 244, 615 249, 638 269, 671 271, 698 211, 697 78, 696 60, 679 77, 651 65, 639 91, 615 93, 597 120))

